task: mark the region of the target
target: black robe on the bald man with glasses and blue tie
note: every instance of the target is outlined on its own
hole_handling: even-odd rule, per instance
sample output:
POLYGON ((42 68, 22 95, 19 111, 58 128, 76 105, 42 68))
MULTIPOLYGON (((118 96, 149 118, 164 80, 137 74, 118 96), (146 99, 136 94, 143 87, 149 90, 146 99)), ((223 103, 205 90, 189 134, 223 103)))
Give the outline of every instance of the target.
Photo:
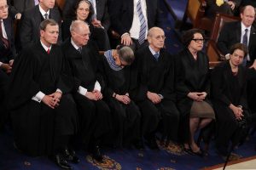
POLYGON ((137 51, 138 81, 140 85, 137 99, 143 114, 143 134, 153 133, 158 127, 160 118, 163 123, 163 135, 177 140, 179 113, 175 105, 174 62, 172 55, 160 49, 158 60, 149 47, 137 51), (147 92, 161 94, 164 99, 154 105, 147 97, 147 92))

